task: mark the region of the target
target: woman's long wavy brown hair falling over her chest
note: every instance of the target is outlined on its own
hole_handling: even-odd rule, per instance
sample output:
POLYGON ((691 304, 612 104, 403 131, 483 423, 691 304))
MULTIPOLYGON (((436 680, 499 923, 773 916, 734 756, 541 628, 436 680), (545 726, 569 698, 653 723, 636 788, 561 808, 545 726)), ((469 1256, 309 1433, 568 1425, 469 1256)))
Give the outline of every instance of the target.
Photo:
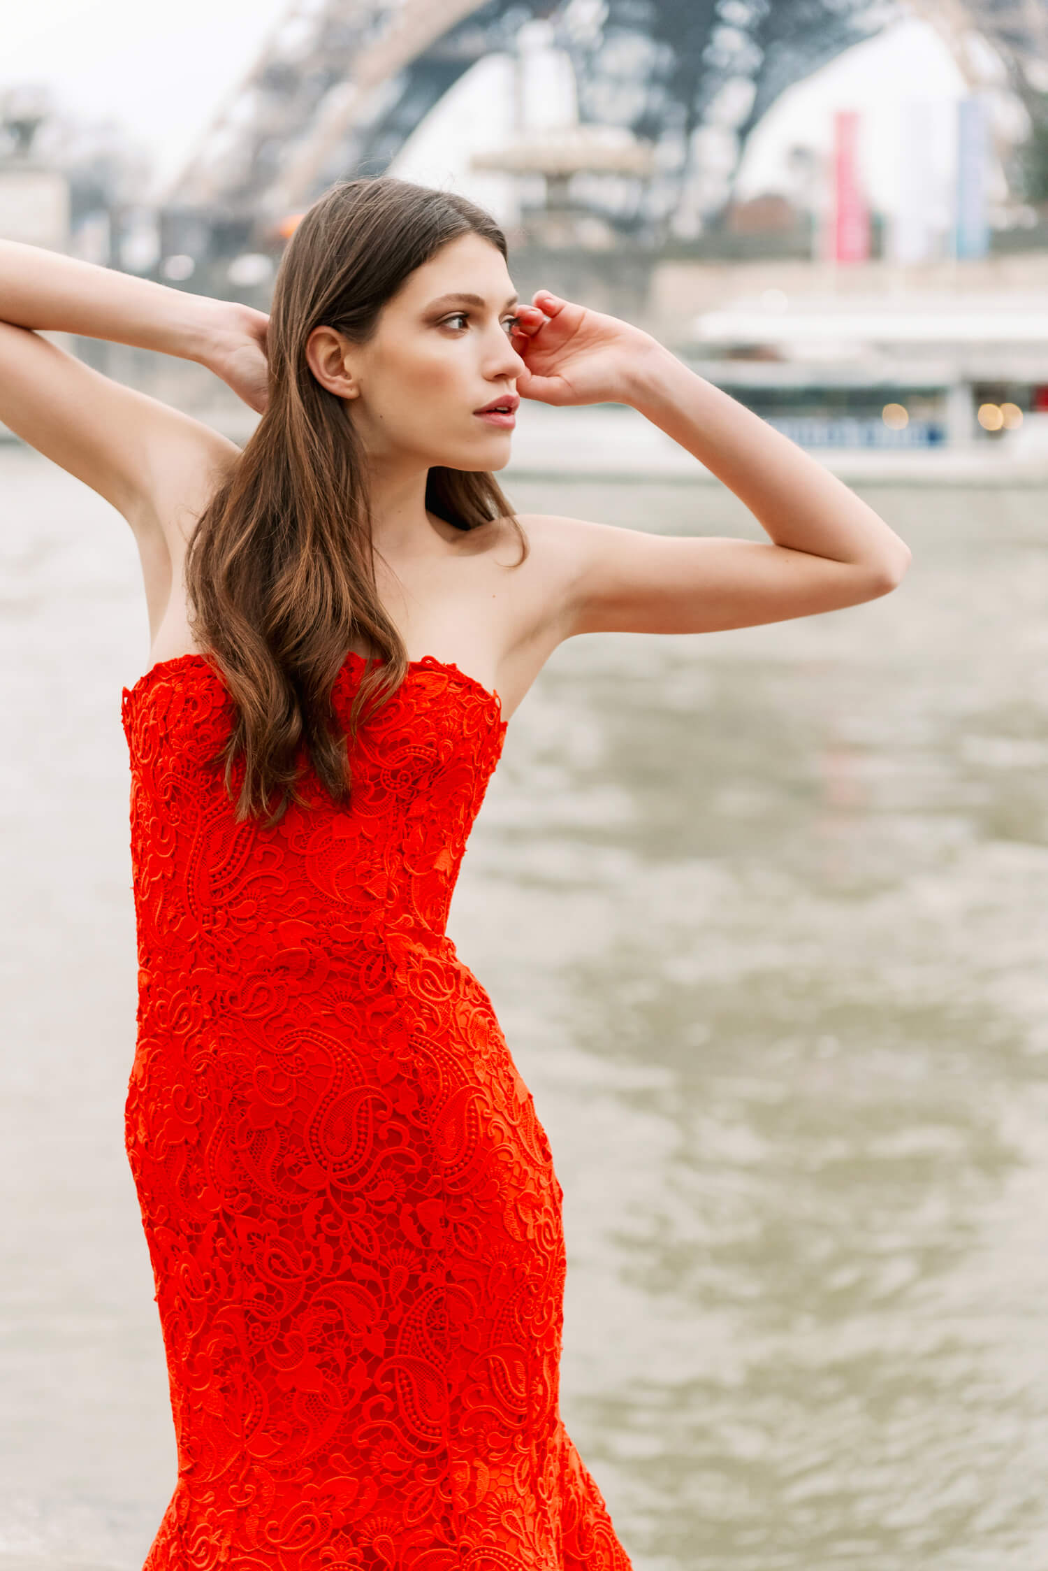
MULTIPOLYGON (((369 661, 350 712, 351 738, 408 671, 403 639, 375 589, 361 440, 344 401, 309 369, 306 341, 326 325, 366 342, 408 275, 471 233, 507 255, 496 222, 463 196, 389 178, 342 181, 307 209, 281 258, 267 330, 268 404, 202 512, 185 561, 195 641, 235 707, 213 762, 224 765, 238 820, 265 812, 273 825, 301 800, 303 745, 331 796, 348 800, 334 679, 362 643, 369 661)), ((510 517, 524 561, 527 540, 493 474, 431 468, 425 506, 458 529, 510 517)))

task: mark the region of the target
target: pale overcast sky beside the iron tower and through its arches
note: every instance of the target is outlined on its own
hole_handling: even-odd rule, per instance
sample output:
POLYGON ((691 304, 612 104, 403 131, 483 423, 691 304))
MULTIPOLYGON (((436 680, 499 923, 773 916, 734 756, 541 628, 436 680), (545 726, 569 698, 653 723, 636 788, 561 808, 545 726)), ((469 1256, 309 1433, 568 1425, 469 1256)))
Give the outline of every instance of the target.
MULTIPOLYGON (((162 185, 177 173, 286 9, 287 0, 179 0, 174 6, 152 0, 22 0, 5 8, 0 85, 44 82, 75 113, 119 119, 154 157, 162 185)), ((901 99, 926 97, 938 105, 946 181, 952 105, 963 91, 944 44, 926 24, 905 20, 780 99, 751 138, 741 192, 748 196, 773 187, 794 141, 828 146, 833 108, 860 108, 868 190, 879 207, 893 211, 904 156, 901 99)), ((438 107, 400 173, 468 185, 466 159, 471 143, 477 145, 477 127, 500 132, 504 116, 496 107, 482 69, 474 83, 438 107)), ((482 190, 475 195, 483 200, 482 190)))

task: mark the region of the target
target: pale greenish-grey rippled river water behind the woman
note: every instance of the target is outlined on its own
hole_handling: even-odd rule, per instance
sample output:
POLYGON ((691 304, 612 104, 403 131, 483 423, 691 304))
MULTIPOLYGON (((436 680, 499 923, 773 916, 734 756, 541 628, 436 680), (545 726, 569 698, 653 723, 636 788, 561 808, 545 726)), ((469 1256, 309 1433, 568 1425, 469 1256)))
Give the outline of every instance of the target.
MULTIPOLYGON (((565 1189, 563 1414, 637 1571, 1048 1566, 1048 509, 860 489, 885 600, 562 646, 449 932, 565 1189)), ((521 509, 758 536, 717 485, 521 509)), ((174 1485, 122 1150, 130 534, 0 449, 0 1568, 174 1485)))

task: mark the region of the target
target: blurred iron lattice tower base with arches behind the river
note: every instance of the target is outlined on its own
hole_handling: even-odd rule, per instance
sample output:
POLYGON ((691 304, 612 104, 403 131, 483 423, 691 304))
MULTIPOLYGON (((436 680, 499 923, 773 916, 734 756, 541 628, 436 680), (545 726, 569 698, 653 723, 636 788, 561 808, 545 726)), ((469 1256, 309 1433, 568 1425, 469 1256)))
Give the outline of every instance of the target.
POLYGON ((1043 102, 1048 0, 293 0, 166 204, 265 226, 333 181, 381 173, 471 66, 548 19, 574 63, 582 121, 656 148, 654 179, 601 179, 587 195, 623 233, 662 239, 704 130, 726 129, 737 168, 789 86, 908 14, 941 33, 973 88, 981 35, 1031 113, 1043 102))

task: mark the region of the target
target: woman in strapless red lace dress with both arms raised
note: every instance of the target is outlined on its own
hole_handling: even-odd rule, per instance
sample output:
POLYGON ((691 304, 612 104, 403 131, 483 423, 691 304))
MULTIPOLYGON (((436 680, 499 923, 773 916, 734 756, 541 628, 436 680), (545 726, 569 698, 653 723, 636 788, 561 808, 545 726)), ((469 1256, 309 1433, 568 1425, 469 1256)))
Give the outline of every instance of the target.
POLYGON ((442 192, 331 189, 268 319, 14 244, 0 317, 0 419, 124 514, 149 605, 127 1150, 179 1480, 147 1566, 626 1568, 559 1415, 549 1145, 444 935, 466 836, 565 638, 855 605, 907 547, 645 333, 518 305, 442 192), (35 328, 198 360, 262 419, 240 451, 35 328), (632 404, 769 542, 515 517, 521 396, 632 404))

